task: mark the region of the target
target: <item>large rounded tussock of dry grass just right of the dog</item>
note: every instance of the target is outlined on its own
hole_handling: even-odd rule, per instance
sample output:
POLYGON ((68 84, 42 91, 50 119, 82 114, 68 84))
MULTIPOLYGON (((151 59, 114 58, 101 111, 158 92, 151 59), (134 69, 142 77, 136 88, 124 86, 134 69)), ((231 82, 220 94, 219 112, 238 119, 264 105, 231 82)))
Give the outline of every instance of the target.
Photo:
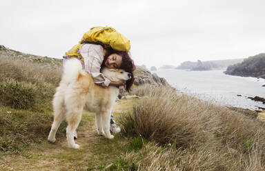
MULTIPOLYGON (((167 88, 155 88, 150 97, 142 98, 132 113, 122 114, 124 134, 155 140, 161 145, 175 142, 177 147, 188 147, 191 142, 204 141, 200 125, 181 107, 181 99, 167 88), (177 104, 178 103, 178 104, 177 104)), ((186 101, 188 102, 188 101, 186 101)))

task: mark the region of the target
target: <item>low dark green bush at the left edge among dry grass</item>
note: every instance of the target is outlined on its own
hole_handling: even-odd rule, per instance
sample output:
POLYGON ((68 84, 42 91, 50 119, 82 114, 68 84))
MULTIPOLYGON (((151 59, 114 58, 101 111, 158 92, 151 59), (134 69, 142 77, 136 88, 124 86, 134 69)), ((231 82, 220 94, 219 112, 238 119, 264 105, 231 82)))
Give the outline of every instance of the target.
POLYGON ((4 83, 0 85, 1 103, 15 109, 28 109, 35 102, 35 94, 29 86, 19 83, 4 83))

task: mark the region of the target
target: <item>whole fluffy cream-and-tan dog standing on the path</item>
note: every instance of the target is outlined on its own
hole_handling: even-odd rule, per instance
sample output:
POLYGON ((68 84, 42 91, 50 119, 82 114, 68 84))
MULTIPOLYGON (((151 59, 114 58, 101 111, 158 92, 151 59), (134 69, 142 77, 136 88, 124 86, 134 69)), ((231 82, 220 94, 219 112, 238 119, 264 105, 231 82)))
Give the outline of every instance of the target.
MULTIPOLYGON (((110 81, 127 81, 131 78, 129 72, 120 69, 104 68, 102 73, 110 81)), ((65 119, 68 123, 66 128, 68 147, 79 148, 79 145, 75 143, 74 134, 81 121, 83 109, 96 113, 97 133, 107 139, 112 139, 114 136, 110 134, 110 111, 118 94, 119 88, 116 86, 103 88, 95 85, 90 74, 82 69, 78 59, 68 59, 52 101, 54 120, 48 141, 55 143, 55 134, 65 119)))

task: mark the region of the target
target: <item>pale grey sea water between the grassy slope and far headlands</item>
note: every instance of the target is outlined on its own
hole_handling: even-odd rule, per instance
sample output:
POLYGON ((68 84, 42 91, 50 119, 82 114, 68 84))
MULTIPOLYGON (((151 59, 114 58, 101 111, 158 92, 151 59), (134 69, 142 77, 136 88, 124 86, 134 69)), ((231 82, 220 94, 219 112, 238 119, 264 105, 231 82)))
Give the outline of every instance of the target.
POLYGON ((164 77, 171 86, 199 99, 212 101, 217 105, 234 106, 258 110, 265 108, 262 102, 248 97, 265 98, 265 79, 238 77, 224 74, 225 70, 188 71, 164 69, 153 71, 164 77))

